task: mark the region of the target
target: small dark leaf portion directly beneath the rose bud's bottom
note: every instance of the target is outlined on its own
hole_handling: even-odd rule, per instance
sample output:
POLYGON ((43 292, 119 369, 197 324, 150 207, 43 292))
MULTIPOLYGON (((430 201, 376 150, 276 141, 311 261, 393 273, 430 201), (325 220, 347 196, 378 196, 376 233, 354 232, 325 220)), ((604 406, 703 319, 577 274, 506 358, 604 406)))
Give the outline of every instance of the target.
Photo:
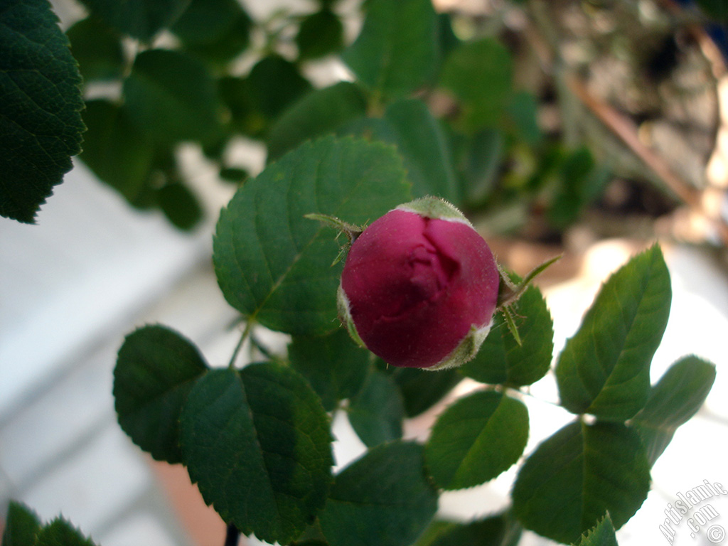
POLYGON ((389 368, 392 379, 400 387, 405 403, 405 416, 414 417, 432 408, 462 380, 457 368, 438 373, 419 368, 389 368))

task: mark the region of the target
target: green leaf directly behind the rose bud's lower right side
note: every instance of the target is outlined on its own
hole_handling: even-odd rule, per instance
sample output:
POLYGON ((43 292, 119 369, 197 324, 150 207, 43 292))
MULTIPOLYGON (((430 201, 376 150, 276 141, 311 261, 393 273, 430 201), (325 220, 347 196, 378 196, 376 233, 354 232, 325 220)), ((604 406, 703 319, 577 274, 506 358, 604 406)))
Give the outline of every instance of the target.
POLYGON ((553 320, 540 290, 531 285, 514 306, 519 345, 497 313, 478 355, 459 371, 488 384, 521 387, 546 375, 553 357, 553 320))

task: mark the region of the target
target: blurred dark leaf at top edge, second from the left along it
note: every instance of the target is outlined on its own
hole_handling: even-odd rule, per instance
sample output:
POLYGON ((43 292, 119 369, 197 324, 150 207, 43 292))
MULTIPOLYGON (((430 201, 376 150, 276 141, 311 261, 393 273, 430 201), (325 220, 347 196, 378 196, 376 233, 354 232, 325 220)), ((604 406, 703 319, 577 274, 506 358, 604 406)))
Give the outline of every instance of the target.
POLYGON ((192 0, 171 31, 186 50, 227 61, 248 47, 252 26, 237 0, 192 0))

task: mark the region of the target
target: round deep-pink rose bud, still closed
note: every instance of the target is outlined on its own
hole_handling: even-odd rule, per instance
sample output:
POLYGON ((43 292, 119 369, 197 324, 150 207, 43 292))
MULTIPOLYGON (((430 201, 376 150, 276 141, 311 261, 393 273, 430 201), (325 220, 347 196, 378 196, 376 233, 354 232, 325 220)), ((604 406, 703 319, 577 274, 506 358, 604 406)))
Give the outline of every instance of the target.
POLYGON ((425 197, 355 239, 339 312, 352 337, 385 362, 450 368, 475 357, 486 339, 499 280, 490 248, 464 215, 425 197))

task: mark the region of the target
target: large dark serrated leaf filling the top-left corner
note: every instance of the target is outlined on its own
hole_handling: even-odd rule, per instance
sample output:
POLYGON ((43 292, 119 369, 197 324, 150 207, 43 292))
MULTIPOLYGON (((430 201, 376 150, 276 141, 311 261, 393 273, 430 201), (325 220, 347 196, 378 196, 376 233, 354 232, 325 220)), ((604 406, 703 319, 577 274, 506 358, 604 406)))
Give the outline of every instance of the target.
POLYGON ((35 216, 81 151, 81 76, 47 0, 0 9, 0 215, 35 216))

